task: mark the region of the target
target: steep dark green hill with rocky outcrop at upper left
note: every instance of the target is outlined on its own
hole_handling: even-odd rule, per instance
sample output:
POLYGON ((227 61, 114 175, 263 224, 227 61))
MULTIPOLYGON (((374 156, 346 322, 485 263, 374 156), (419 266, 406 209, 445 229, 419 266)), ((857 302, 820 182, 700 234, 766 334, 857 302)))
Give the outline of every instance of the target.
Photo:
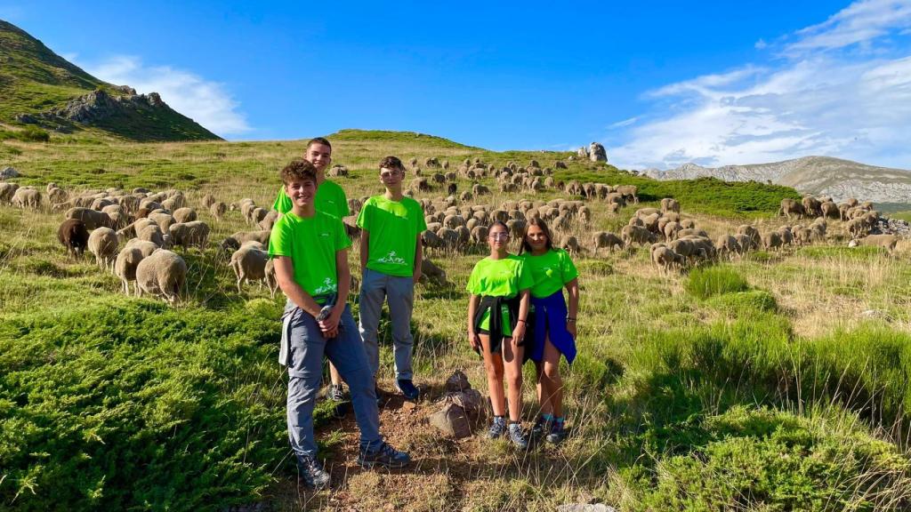
POLYGON ((170 108, 92 77, 21 28, 0 20, 0 122, 63 132, 99 128, 138 141, 219 136, 170 108))

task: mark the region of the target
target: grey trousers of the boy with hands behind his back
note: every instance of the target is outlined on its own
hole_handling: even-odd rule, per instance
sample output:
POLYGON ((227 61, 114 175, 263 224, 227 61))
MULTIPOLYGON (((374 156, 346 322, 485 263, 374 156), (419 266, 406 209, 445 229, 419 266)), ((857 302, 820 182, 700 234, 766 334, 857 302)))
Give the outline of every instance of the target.
POLYGON ((411 380, 411 353, 415 344, 411 335, 411 312, 415 307, 414 280, 410 276, 397 277, 370 269, 363 272, 359 304, 361 340, 374 378, 380 369, 380 347, 376 336, 384 300, 389 302, 389 317, 393 324, 395 378, 411 380))

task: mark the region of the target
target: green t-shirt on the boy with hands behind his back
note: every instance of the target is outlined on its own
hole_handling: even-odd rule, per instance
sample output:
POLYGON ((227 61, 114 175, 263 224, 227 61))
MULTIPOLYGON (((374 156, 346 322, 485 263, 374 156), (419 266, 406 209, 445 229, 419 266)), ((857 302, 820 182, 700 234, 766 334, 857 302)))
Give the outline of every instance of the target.
POLYGON ((421 203, 374 196, 363 203, 357 225, 370 233, 368 269, 397 277, 414 274, 417 235, 427 229, 421 203))

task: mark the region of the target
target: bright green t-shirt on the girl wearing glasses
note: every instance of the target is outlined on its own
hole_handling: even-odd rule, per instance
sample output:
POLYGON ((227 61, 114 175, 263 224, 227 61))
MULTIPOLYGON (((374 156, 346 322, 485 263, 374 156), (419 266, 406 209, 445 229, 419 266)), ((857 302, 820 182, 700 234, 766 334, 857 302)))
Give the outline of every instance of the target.
MULTIPOLYGON (((478 261, 468 278, 466 290, 472 295, 491 295, 511 299, 519 292, 532 287, 534 281, 528 271, 525 260, 515 254, 509 254, 502 260, 491 260, 486 257, 478 261)), ((509 310, 506 304, 500 312, 503 315, 503 325, 509 325, 509 310)), ((490 326, 490 312, 485 312, 481 317, 481 329, 490 326)))

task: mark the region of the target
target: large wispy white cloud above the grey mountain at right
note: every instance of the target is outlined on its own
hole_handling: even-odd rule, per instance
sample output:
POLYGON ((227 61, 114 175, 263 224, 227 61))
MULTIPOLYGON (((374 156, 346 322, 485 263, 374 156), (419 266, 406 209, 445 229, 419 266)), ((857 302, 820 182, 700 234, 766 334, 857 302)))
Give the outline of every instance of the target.
POLYGON ((660 107, 609 148, 611 161, 667 169, 825 155, 911 167, 911 45, 896 36, 909 5, 858 2, 785 38, 789 58, 650 91, 660 107), (876 51, 886 38, 897 46, 876 51), (866 51, 845 47, 855 43, 866 51))

